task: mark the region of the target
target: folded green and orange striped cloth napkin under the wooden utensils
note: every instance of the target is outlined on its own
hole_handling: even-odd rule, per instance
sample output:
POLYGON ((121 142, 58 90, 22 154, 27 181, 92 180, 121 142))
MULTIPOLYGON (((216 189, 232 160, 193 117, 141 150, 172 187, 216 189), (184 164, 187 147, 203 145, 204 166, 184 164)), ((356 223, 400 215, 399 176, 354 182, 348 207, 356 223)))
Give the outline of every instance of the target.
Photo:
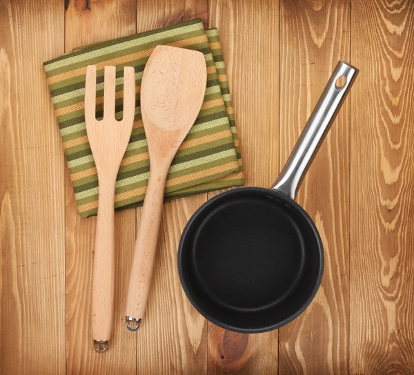
POLYGON ((124 66, 135 67, 136 107, 130 142, 117 176, 115 210, 144 202, 149 176, 148 148, 139 106, 141 77, 155 46, 199 50, 207 65, 204 104, 168 172, 166 199, 182 198, 244 184, 242 160, 221 46, 216 29, 204 30, 199 19, 75 48, 43 63, 55 115, 82 218, 97 214, 98 179, 86 135, 84 95, 86 67, 97 66, 97 118, 103 115, 103 67, 117 68, 115 117, 121 119, 124 66))

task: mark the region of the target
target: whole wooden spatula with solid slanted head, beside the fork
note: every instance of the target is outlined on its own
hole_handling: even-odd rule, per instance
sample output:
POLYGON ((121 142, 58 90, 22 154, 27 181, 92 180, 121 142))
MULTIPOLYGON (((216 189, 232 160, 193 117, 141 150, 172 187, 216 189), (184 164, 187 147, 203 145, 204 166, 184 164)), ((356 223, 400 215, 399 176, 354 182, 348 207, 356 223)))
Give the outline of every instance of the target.
POLYGON ((144 69, 141 113, 150 177, 126 301, 126 327, 131 331, 138 329, 148 300, 168 169, 199 114, 206 81, 204 55, 183 48, 157 46, 144 69))

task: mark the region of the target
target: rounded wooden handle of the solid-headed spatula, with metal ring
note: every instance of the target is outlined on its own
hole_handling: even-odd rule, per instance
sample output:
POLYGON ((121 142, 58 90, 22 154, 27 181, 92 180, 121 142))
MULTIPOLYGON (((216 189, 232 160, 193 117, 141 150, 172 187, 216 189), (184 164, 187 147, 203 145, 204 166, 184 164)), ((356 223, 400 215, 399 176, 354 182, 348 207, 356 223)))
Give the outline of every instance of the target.
POLYGON ((164 171, 164 169, 157 169, 156 166, 154 169, 150 166, 150 178, 135 242, 135 253, 126 299, 126 327, 131 331, 138 329, 148 301, 167 173, 168 169, 164 171), (134 327, 130 325, 132 321, 135 322, 134 327))

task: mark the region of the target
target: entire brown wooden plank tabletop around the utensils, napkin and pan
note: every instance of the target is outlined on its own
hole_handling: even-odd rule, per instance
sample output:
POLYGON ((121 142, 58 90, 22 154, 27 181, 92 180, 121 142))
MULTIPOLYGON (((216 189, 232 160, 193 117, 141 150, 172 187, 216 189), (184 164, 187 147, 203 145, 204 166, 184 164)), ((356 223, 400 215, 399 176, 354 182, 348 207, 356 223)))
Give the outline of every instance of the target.
POLYGON ((413 61, 411 0, 0 1, 0 374, 414 374, 413 61), (274 182, 337 60, 361 70, 299 190, 324 242, 322 287, 279 331, 207 323, 176 251, 208 196, 176 200, 131 334, 141 209, 116 213, 115 324, 95 354, 96 218, 77 214, 41 63, 195 17, 219 28, 248 185, 274 182))

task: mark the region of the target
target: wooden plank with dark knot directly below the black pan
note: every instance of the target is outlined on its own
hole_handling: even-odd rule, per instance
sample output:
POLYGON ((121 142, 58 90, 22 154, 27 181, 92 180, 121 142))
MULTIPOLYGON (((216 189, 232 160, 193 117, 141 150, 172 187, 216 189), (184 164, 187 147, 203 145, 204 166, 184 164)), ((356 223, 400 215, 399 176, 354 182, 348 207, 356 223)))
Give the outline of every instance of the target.
MULTIPOLYGON (((246 185, 279 171, 279 2, 209 1, 233 97, 246 185)), ((210 193, 213 196, 213 193, 210 193)), ((208 374, 276 374, 277 331, 236 334, 208 323, 208 374)))

